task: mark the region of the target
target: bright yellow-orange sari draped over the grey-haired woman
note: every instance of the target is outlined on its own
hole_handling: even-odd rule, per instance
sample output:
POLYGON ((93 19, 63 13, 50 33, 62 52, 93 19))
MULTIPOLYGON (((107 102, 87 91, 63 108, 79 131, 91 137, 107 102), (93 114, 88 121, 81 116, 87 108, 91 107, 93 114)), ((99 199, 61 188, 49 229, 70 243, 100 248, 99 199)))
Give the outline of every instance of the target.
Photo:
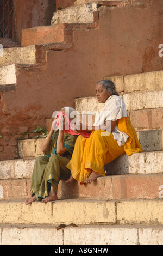
POLYGON ((66 166, 75 180, 84 183, 92 170, 105 176, 105 164, 125 153, 130 156, 143 151, 128 115, 117 121, 118 129, 129 136, 122 146, 118 145, 112 133, 109 136, 101 136, 101 132, 106 132, 102 130, 92 132, 90 138, 78 136, 72 159, 66 166))

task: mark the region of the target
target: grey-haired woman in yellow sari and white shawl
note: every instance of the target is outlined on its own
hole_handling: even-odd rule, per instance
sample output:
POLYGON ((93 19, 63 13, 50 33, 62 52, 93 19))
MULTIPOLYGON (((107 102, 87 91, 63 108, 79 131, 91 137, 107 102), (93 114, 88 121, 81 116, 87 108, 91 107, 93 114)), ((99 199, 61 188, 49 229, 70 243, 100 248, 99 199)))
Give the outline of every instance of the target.
MULTIPOLYGON (((74 179, 81 184, 95 181, 99 176, 105 176, 105 164, 124 153, 130 156, 142 152, 126 105, 116 92, 114 83, 110 80, 97 82, 96 96, 100 104, 95 124, 86 127, 91 133, 89 138, 81 135, 77 138, 72 159, 66 166, 72 174, 67 183, 74 179)), ((76 132, 81 131, 81 126, 76 128, 76 132)))

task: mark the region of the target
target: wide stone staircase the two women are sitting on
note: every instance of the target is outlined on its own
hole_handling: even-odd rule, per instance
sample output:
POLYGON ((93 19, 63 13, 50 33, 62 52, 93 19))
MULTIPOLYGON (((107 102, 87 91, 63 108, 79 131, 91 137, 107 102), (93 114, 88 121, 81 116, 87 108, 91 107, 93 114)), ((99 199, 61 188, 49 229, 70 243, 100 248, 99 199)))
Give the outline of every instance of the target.
MULTIPOLYGON (((66 185, 62 180, 58 202, 43 205, 35 202, 27 206, 18 199, 30 197, 32 170, 35 157, 42 154, 39 150, 42 139, 20 141, 20 159, 0 162, 2 244, 161 245, 162 124, 156 127, 150 123, 152 119, 147 114, 147 110, 162 113, 161 96, 156 101, 148 96, 152 93, 161 95, 160 75, 161 71, 124 76, 123 81, 128 83, 121 83, 122 77, 112 77, 117 87, 125 84, 125 90, 130 90, 128 85, 131 83, 135 84, 135 77, 139 77, 140 84, 143 82, 146 86, 148 78, 152 81, 154 77, 157 88, 149 87, 148 90, 148 87, 143 87, 145 90, 137 89, 135 92, 131 87, 134 92, 126 93, 122 90, 121 96, 126 101, 130 117, 132 112, 137 112, 136 116, 141 119, 141 113, 145 112, 141 126, 139 119, 135 125, 145 151, 118 157, 105 166, 108 173, 105 178, 83 186, 78 182, 66 185), (134 106, 135 99, 137 107, 134 106), (142 99, 149 106, 147 103, 143 105, 142 99), (148 126, 144 127, 143 121, 148 126)), ((94 112, 97 100, 95 97, 76 99, 75 106, 79 112, 87 109, 94 112)))

